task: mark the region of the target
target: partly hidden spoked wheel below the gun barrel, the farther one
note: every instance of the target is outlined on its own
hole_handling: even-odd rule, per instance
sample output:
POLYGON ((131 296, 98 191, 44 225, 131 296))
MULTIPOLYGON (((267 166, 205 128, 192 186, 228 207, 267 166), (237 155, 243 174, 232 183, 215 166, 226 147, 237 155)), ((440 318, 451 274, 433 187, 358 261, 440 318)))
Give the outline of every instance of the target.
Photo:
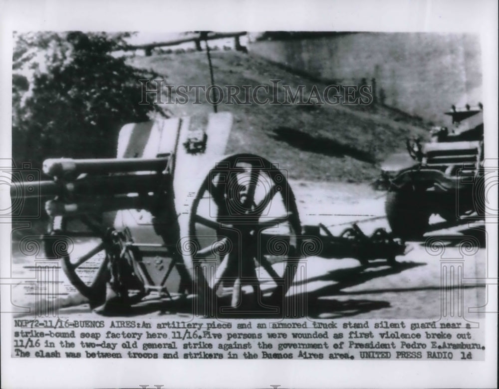
POLYGON ((69 282, 91 306, 103 303, 110 278, 111 230, 90 215, 56 216, 52 223, 52 233, 45 237, 47 257, 60 259, 69 282))

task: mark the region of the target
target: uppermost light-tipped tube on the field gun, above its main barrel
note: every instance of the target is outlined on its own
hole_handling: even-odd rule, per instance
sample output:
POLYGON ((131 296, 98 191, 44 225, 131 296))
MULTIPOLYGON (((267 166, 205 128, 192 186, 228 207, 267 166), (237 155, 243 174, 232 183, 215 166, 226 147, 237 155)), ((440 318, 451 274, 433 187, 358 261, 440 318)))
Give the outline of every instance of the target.
POLYGON ((52 177, 67 174, 104 174, 126 173, 138 171, 163 171, 169 157, 161 158, 101 158, 101 159, 46 159, 43 161, 43 172, 52 177))

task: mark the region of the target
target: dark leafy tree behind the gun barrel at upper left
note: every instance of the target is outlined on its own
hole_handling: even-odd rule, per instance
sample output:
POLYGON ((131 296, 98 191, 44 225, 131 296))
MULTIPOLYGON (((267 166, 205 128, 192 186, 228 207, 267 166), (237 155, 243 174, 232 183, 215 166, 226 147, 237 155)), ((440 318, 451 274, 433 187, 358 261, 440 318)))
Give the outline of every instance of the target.
MULTIPOLYGON (((12 156, 17 166, 46 158, 114 157, 117 134, 129 122, 163 114, 141 105, 137 69, 116 52, 129 33, 17 34, 13 52, 12 156)), ((164 115, 164 114, 163 114, 164 115)))

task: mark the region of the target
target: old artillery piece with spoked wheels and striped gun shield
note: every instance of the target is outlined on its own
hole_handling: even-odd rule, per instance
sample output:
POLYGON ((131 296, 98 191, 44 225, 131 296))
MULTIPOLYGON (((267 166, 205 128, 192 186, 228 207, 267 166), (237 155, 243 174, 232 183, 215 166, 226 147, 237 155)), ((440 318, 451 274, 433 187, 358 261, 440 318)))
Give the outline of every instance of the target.
POLYGON ((308 226, 303 236, 285 174, 253 154, 224 156, 231 126, 228 112, 128 124, 116 159, 44 161, 45 254, 91 306, 109 285, 132 303, 152 291, 172 297, 176 284, 198 296, 197 315, 282 315, 311 239, 328 258, 363 264, 403 254, 386 232, 371 239, 356 226, 336 238, 308 226))

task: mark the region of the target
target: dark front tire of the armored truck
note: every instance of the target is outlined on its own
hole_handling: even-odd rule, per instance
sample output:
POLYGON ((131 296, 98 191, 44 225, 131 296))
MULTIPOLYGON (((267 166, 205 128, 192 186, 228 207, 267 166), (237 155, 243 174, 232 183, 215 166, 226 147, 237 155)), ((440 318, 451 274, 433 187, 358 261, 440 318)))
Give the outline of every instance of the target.
POLYGON ((431 214, 425 193, 412 188, 389 191, 385 212, 393 234, 404 240, 421 239, 431 214))

